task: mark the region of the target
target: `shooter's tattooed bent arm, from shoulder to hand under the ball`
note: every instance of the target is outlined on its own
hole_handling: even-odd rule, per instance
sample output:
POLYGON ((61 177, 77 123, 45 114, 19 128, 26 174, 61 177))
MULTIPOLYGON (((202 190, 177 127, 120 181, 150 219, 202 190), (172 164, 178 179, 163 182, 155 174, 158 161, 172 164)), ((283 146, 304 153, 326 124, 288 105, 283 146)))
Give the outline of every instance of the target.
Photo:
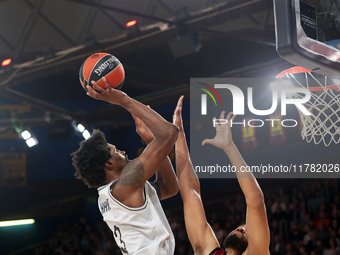
POLYGON ((146 105, 130 98, 120 90, 111 88, 105 78, 103 81, 106 89, 92 81, 97 91, 87 86, 87 95, 122 106, 140 118, 155 136, 138 158, 124 166, 112 189, 112 194, 120 202, 127 206, 138 207, 144 203, 144 183, 155 174, 162 161, 166 159, 177 139, 178 128, 146 105))

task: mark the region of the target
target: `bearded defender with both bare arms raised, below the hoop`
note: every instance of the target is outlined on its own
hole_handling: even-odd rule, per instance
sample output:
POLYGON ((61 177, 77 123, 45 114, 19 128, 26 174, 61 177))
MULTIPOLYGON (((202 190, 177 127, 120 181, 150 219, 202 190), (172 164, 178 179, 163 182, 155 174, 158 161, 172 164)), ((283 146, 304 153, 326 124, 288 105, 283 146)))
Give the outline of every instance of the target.
MULTIPOLYGON (((175 144, 176 170, 179 189, 183 199, 185 226, 195 255, 268 255, 270 234, 264 197, 252 173, 241 173, 245 167, 242 156, 232 140, 230 120, 232 113, 226 117, 228 124, 216 126, 214 139, 206 139, 202 145, 211 144, 226 152, 231 163, 236 167, 236 175, 246 199, 246 224, 231 231, 225 238, 223 247, 206 220, 200 196, 200 183, 191 163, 182 123, 182 101, 178 101, 173 123, 180 129, 175 144)), ((224 112, 220 119, 224 119, 224 112)))

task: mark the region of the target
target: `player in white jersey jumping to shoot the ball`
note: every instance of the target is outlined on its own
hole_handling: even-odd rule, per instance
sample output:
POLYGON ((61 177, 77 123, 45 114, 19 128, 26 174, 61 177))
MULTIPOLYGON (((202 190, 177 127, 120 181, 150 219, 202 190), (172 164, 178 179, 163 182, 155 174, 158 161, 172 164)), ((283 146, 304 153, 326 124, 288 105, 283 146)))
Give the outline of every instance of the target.
MULTIPOLYGON (((90 188, 98 188, 98 205, 111 228, 122 254, 173 255, 174 236, 162 210, 156 189, 148 179, 157 172, 156 187, 161 198, 178 192, 178 183, 167 158, 177 138, 178 128, 155 111, 130 98, 124 92, 106 89, 93 82, 87 86, 90 97, 120 105, 151 130, 143 153, 129 160, 124 151, 105 140, 99 130, 80 143, 73 155, 75 176, 90 188)), ((143 130, 137 126, 143 137, 143 130)))

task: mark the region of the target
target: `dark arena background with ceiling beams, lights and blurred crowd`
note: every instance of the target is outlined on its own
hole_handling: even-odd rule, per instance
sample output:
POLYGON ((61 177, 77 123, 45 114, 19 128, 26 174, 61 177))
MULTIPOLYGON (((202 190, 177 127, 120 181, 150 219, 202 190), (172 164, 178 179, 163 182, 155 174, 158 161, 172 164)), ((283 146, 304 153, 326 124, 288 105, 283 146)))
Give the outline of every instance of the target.
MULTIPOLYGON (((187 132, 190 78, 273 78, 292 66, 276 53, 270 0, 11 0, 0 1, 0 14, 0 57, 12 58, 11 65, 0 69, 0 220, 36 220, 34 225, 0 228, 1 254, 119 254, 101 221, 96 190, 74 179, 70 154, 83 138, 72 123, 103 130, 130 158, 145 145, 126 111, 86 96, 78 70, 90 54, 105 51, 118 57, 126 70, 122 90, 169 121, 177 99, 185 95, 187 132), (126 28, 133 19, 138 27, 126 28), (33 131, 37 146, 28 148, 17 136, 14 126, 19 124, 33 131)), ((273 139, 269 130, 257 133, 256 146, 252 136, 242 147, 236 130, 235 141, 247 162, 261 162, 268 154, 282 159, 287 152, 294 155, 290 162, 338 162, 338 146, 323 153, 322 144, 306 145, 299 131, 273 139)), ((333 232, 339 235, 337 179, 259 183, 268 207, 272 253, 303 254, 305 247, 308 254, 322 254, 328 249, 333 232), (276 204, 283 204, 281 210, 274 209, 276 204)), ((241 191, 235 179, 201 180, 201 185, 208 221, 221 239, 242 221, 241 191)), ((180 195, 163 205, 176 254, 192 254, 180 195)))

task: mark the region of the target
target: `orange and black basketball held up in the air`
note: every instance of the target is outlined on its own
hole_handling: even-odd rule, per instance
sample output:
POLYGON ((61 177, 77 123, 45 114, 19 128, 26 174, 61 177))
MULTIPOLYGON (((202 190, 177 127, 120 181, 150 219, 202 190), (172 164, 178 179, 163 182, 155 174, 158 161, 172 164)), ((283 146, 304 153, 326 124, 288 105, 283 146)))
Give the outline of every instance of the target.
POLYGON ((87 92, 86 86, 93 87, 91 81, 106 89, 102 78, 105 77, 112 88, 120 89, 125 79, 125 71, 122 63, 115 56, 99 52, 89 56, 81 65, 79 80, 87 92))

